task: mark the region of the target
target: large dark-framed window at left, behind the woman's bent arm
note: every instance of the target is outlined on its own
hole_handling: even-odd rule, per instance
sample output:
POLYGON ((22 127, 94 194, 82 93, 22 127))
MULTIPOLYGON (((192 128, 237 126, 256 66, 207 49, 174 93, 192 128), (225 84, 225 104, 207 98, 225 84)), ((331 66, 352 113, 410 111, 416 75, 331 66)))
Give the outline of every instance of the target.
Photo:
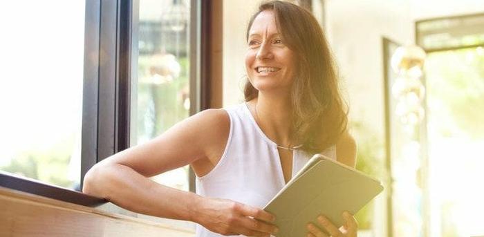
MULTIPOLYGON (((0 186, 80 205, 100 205, 105 201, 62 187, 81 189, 86 172, 95 163, 209 108, 208 78, 217 75, 201 68, 210 69, 214 60, 207 57, 213 53, 207 44, 212 37, 207 27, 212 4, 200 0, 160 3, 163 12, 165 6, 183 4, 181 10, 188 14, 185 28, 176 29, 177 10, 169 17, 160 9, 151 13, 162 17, 140 16, 140 7, 158 6, 147 0, 32 1, 28 9, 25 2, 9 2, 8 7, 0 8, 3 32, 10 35, 0 39, 6 66, 0 78, 0 106, 5 113, 0 117, 0 186), (167 32, 153 39, 150 34, 162 30, 153 19, 169 21, 171 32, 165 29, 167 32), (165 51, 155 51, 153 46, 165 51), (164 75, 156 59, 151 60, 159 59, 158 53, 173 55, 168 58, 176 60, 179 74, 172 75, 176 83, 162 93, 151 93, 143 85, 147 75, 155 79, 164 75), (205 57, 210 60, 201 61, 205 57), (147 73, 144 69, 150 67, 153 70, 147 73), (142 77, 139 84, 138 77, 142 77), (155 103, 153 95, 171 102, 150 106, 155 103), (168 114, 171 117, 160 126, 150 120, 150 110, 162 113, 164 119, 168 114), (32 153, 37 151, 32 147, 42 149, 32 153), (42 162, 37 163, 37 158, 42 162)), ((177 181, 169 186, 194 191, 194 173, 188 167, 176 172, 172 174, 177 181)), ((109 209, 126 212, 111 209, 111 205, 109 209)))

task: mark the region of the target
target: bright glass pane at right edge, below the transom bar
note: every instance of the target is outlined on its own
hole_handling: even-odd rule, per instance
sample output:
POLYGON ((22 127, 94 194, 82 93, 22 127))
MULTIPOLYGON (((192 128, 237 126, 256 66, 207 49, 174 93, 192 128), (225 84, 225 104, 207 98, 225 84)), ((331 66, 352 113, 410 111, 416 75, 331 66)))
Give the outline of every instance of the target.
POLYGON ((427 59, 431 236, 482 236, 484 55, 482 48, 427 59))

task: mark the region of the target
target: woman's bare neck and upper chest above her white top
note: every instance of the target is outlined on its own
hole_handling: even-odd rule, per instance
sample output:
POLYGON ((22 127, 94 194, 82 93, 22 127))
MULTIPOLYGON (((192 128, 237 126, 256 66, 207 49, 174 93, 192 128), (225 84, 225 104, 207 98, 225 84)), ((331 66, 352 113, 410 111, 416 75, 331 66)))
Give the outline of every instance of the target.
POLYGON ((292 106, 288 96, 267 96, 259 93, 252 101, 252 113, 262 131, 281 146, 292 144, 292 106))

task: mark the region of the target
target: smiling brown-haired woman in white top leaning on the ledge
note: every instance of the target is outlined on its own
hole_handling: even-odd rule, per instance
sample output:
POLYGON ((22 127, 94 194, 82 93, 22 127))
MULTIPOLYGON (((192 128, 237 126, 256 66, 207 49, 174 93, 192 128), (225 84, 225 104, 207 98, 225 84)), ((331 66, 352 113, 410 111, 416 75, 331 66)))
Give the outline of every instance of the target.
MULTIPOLYGON (((247 32, 246 102, 202 111, 154 140, 96 164, 84 192, 151 216, 198 223, 197 236, 270 236, 274 217, 261 208, 314 153, 355 166, 355 142, 321 28, 310 12, 263 3, 247 32), (190 164, 196 193, 149 180, 190 164), (218 234, 216 234, 218 233, 218 234)), ((356 236, 344 214, 338 229, 321 216, 308 236, 356 236)))

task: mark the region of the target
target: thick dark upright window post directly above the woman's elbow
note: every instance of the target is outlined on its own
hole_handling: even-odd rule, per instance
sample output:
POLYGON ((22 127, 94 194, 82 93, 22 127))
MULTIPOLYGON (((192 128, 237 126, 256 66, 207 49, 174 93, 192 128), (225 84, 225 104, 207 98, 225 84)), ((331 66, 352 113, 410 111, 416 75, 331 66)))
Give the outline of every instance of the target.
POLYGON ((133 1, 86 1, 81 187, 94 164, 129 147, 132 9, 133 1))

